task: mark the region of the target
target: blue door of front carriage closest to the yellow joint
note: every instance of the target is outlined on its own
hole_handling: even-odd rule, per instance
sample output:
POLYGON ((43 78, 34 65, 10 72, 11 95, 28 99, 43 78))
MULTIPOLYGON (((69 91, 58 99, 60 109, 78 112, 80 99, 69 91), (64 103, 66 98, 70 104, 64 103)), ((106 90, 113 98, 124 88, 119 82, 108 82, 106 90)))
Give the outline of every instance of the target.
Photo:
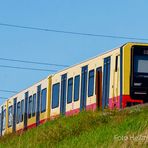
POLYGON ((64 115, 66 112, 66 84, 67 74, 61 76, 61 100, 60 100, 60 114, 64 115))

